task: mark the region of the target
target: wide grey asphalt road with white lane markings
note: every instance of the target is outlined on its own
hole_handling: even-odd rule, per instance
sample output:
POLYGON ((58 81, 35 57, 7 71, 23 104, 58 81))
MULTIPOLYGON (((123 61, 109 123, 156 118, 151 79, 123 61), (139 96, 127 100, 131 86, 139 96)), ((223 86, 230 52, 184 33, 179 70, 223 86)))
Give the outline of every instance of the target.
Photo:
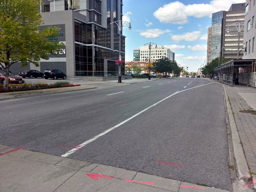
POLYGON ((69 157, 231 190, 223 87, 211 82, 165 79, 0 101, 0 143, 59 156, 84 143, 69 157))

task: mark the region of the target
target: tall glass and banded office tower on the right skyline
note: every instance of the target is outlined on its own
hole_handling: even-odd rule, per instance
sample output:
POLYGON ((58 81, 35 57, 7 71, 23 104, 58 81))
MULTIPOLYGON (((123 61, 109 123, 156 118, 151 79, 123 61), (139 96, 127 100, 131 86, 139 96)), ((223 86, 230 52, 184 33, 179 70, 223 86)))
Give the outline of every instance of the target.
MULTIPOLYGON (((243 28, 239 35, 237 27, 244 24, 245 3, 235 3, 228 11, 212 14, 211 33, 208 32, 207 63, 220 56, 236 59, 238 49, 243 47, 243 28), (229 30, 228 30, 229 29, 229 30), (239 38, 239 36, 240 38, 239 38)), ((241 51, 239 58, 243 55, 241 51)))

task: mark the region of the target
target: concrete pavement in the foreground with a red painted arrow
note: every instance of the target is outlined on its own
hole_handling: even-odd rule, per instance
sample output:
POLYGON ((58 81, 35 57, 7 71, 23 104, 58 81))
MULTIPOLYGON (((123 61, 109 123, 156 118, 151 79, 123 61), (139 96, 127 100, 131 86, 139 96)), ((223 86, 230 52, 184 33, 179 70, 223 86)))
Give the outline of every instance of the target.
POLYGON ((0 145, 0 191, 225 191, 24 148, 0 145))

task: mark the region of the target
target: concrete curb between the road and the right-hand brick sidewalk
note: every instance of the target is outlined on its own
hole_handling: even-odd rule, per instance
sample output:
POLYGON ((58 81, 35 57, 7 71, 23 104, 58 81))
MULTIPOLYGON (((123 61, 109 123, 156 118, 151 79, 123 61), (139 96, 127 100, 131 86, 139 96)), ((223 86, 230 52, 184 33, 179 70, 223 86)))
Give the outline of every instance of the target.
POLYGON ((237 176, 239 180, 242 179, 249 179, 251 177, 249 173, 249 168, 244 156, 243 148, 240 144, 240 138, 239 133, 237 131, 236 122, 233 116, 233 111, 230 105, 230 102, 228 100, 227 91, 225 86, 224 87, 224 93, 225 93, 225 102, 227 106, 227 114, 228 119, 230 122, 230 129, 231 129, 231 139, 232 139, 232 145, 233 145, 233 151, 234 151, 234 157, 235 157, 235 163, 236 163, 236 170, 237 170, 237 176))

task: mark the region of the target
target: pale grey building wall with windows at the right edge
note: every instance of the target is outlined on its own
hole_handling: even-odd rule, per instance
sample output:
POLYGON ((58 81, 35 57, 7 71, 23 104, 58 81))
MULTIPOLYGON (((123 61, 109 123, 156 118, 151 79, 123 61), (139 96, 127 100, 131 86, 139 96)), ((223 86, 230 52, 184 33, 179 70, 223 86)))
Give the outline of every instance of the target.
MULTIPOLYGON (((243 59, 256 59, 255 36, 256 36, 256 3, 255 0, 246 0, 245 3, 245 26, 244 26, 244 47, 247 52, 244 52, 243 59)), ((254 64, 255 70, 255 64, 254 64)))

